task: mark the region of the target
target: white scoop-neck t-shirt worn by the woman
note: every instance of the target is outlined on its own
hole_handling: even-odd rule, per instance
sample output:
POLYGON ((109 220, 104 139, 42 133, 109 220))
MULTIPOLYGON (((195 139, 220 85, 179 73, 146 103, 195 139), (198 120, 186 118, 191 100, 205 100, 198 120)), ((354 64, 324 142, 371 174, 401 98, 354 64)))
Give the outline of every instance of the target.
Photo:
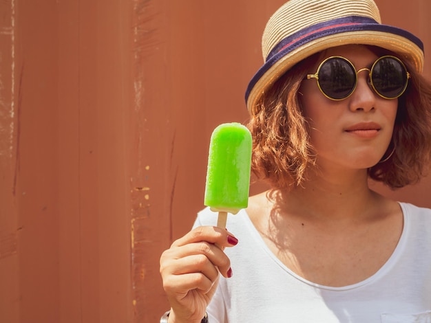
MULTIPOLYGON (((431 323, 431 210, 400 203, 403 232, 390 259, 355 285, 326 287, 297 276, 266 246, 244 210, 229 214, 239 243, 227 248, 232 278, 220 277, 210 323, 431 323)), ((208 208, 195 226, 215 225, 208 208)))

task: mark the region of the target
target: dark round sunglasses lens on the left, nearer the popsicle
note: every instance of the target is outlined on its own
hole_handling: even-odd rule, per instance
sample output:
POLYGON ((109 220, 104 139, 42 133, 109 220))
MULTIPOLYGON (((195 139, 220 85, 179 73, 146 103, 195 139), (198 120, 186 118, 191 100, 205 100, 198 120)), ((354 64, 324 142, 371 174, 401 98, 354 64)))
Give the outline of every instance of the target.
POLYGON ((319 87, 335 100, 347 98, 356 86, 355 68, 343 58, 329 58, 319 69, 319 87))

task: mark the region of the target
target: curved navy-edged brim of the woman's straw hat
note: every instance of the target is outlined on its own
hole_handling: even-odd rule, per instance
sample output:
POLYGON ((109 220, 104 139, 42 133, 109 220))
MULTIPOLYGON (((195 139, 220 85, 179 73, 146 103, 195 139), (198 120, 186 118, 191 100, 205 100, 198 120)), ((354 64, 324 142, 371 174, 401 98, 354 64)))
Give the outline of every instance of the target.
POLYGON ((304 58, 324 49, 341 45, 375 45, 398 54, 401 60, 411 63, 421 73, 423 70, 423 44, 416 36, 397 27, 381 24, 361 24, 350 30, 331 29, 330 34, 312 34, 299 42, 286 45, 271 56, 257 71, 246 90, 246 106, 252 115, 257 112, 257 102, 263 93, 288 69, 304 58))

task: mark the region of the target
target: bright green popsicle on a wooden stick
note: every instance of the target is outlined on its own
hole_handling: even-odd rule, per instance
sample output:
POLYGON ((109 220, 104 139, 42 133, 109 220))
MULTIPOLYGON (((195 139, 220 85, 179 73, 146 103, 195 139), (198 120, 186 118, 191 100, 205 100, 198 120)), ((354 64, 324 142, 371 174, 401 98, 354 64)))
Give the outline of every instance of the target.
POLYGON ((251 133, 238 122, 220 124, 211 135, 204 205, 225 227, 227 212, 238 213, 249 202, 251 133))

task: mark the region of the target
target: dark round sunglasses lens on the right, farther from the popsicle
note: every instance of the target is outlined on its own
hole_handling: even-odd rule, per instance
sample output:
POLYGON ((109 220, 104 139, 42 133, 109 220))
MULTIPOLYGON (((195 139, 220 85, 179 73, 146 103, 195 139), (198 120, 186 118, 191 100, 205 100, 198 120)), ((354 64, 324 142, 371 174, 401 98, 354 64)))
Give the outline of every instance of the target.
POLYGON ((383 57, 372 67, 371 82, 385 98, 397 98, 407 86, 407 71, 404 65, 392 57, 383 57))

